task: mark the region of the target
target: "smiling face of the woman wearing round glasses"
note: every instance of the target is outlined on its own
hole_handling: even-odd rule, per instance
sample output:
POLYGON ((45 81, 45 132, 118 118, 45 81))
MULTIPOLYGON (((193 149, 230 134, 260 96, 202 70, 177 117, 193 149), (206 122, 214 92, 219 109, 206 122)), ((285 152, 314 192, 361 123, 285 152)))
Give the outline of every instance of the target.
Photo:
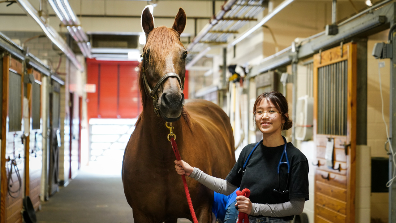
MULTIPOLYGON (((282 119, 282 114, 281 113, 275 113, 275 112, 280 112, 274 104, 271 102, 267 101, 267 98, 263 98, 259 104, 257 104, 256 108, 256 114, 259 114, 261 112, 267 112, 267 113, 262 113, 263 117, 261 119, 256 119, 256 125, 257 128, 259 128, 260 132, 263 134, 271 134, 276 131, 281 131, 282 129, 282 123, 285 123, 285 120, 282 119), (276 116, 272 119, 268 117, 268 115, 274 115, 276 116)), ((287 115, 287 113, 286 113, 287 115)))

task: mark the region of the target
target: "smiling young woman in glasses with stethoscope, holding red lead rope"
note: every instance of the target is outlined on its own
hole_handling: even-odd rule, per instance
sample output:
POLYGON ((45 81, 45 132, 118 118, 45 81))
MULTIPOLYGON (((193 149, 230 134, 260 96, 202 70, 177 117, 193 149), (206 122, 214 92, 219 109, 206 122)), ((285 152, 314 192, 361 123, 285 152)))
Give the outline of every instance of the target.
MULTIPOLYGON (((179 175, 192 177, 217 193, 228 195, 238 187, 241 191, 248 188, 251 192, 249 198, 238 196, 234 206, 238 211, 247 213, 251 223, 289 223, 294 215, 303 212, 304 203, 309 199, 308 160, 290 142, 286 144, 287 156, 284 155, 286 139, 281 133, 290 129, 292 122, 287 113, 287 100, 280 92, 261 94, 254 103, 253 111, 263 140, 243 148, 226 180, 207 175, 183 160, 175 161, 175 168, 179 175), (256 145, 243 171, 244 163, 256 145), (289 173, 286 163, 280 165, 278 173, 279 163, 287 160, 289 173)), ((233 218, 226 216, 227 222, 230 219, 233 218)))

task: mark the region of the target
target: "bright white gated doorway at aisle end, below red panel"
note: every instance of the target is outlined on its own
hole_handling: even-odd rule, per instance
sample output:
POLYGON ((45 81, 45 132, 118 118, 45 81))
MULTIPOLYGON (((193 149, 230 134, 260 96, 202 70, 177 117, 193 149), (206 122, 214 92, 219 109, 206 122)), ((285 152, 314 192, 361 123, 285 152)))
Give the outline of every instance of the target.
POLYGON ((135 130, 136 121, 89 119, 89 165, 105 167, 104 170, 108 171, 121 171, 125 147, 135 130))

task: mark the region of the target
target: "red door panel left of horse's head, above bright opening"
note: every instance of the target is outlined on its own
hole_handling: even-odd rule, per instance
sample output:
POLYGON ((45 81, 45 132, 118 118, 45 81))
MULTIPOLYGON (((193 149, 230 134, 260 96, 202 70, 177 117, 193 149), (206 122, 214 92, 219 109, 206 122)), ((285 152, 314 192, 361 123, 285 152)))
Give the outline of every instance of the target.
POLYGON ((88 118, 135 118, 139 115, 138 65, 138 62, 87 59, 87 83, 96 85, 95 93, 87 93, 88 118))

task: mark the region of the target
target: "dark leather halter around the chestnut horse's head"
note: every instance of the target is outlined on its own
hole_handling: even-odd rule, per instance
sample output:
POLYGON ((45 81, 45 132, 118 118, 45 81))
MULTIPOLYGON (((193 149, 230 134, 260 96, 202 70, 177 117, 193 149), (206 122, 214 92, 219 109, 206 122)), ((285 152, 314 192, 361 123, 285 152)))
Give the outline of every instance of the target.
POLYGON ((162 76, 160 78, 160 80, 156 83, 156 85, 154 86, 154 88, 151 90, 150 85, 148 85, 148 81, 147 81, 147 77, 146 77, 146 73, 145 73, 145 53, 142 54, 142 75, 143 75, 143 81, 145 82, 145 92, 147 94, 148 97, 152 98, 152 105, 154 106, 154 113, 157 116, 160 116, 160 110, 158 108, 158 88, 160 88, 160 86, 162 85, 162 83, 168 78, 168 77, 176 77, 177 81, 179 81, 179 85, 180 85, 180 89, 183 91, 183 86, 181 84, 181 79, 179 77, 179 75, 177 75, 177 73, 166 73, 164 76, 162 76))

